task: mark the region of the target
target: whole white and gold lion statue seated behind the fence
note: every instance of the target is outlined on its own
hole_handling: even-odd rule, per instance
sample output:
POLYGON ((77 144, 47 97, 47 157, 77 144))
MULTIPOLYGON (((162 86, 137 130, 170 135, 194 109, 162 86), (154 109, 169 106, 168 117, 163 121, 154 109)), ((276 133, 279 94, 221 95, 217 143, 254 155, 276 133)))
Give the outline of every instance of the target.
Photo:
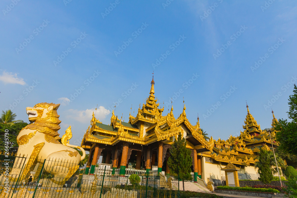
POLYGON ((59 106, 60 104, 39 103, 26 108, 31 123, 24 127, 17 137, 18 160, 15 160, 9 174, 11 184, 16 183, 19 175, 21 176, 18 181, 25 182, 33 170, 37 170, 33 179, 36 181, 43 166, 44 171, 54 175, 50 181, 56 186, 63 186, 78 170, 78 164, 85 158, 86 152, 79 146, 69 144, 72 137, 70 126, 66 134, 59 137, 61 121, 56 111, 59 106), (59 142, 60 139, 62 143, 59 142), (71 147, 80 149, 83 156, 71 147))

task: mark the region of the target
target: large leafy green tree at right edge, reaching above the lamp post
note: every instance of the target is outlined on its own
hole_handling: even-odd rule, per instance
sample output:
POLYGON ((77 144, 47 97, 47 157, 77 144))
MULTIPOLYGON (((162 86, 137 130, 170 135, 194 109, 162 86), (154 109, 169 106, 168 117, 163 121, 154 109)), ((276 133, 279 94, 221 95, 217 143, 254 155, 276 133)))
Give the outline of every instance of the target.
POLYGON ((279 142, 279 148, 285 153, 297 155, 297 87, 294 85, 293 95, 289 96, 289 111, 288 118, 292 119, 288 122, 287 119, 279 119, 279 123, 275 126, 276 140, 279 142))

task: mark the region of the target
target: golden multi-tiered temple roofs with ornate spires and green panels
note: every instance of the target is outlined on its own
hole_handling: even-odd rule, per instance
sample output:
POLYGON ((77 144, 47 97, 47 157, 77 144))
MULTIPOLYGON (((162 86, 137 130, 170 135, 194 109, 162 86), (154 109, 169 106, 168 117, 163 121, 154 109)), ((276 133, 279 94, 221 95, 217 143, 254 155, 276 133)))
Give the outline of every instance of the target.
MULTIPOLYGON (((104 145, 116 145, 119 142, 132 142, 140 145, 149 145, 154 142, 163 142, 172 144, 179 133, 184 134, 187 142, 187 148, 196 149, 198 155, 213 158, 215 161, 233 163, 249 166, 257 161, 257 152, 260 148, 270 149, 271 142, 267 131, 262 131, 260 125, 249 112, 247 106, 247 116, 243 125, 243 132, 240 136, 230 135, 228 140, 206 140, 200 129, 199 117, 196 125, 192 125, 186 115, 186 106, 184 105, 182 113, 175 118, 173 115, 173 106, 170 113, 163 116, 163 108, 159 108, 157 98, 154 96, 154 77, 151 81, 149 96, 146 98, 142 108, 138 108, 136 117, 129 115, 129 122, 121 121, 118 116, 112 112, 110 125, 102 124, 94 116, 91 119, 91 126, 87 129, 81 142, 81 147, 90 150, 94 143, 104 145)), ((273 113, 273 112, 272 112, 273 113)), ((274 140, 274 126, 277 119, 272 120, 271 137, 273 144, 277 146, 274 140)))

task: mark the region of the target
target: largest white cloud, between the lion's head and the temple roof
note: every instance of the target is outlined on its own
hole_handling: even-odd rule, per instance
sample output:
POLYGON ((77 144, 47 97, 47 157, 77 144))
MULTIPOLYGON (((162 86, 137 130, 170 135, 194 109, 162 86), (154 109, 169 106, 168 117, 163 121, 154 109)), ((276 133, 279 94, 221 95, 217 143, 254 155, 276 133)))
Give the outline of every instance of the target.
MULTIPOLYGON (((81 123, 88 123, 92 119, 92 113, 95 113, 95 109, 87 109, 87 110, 77 110, 77 109, 69 109, 66 111, 66 117, 69 119, 76 120, 81 123)), ((103 120, 106 116, 110 114, 110 110, 105 109, 104 107, 100 106, 97 108, 96 118, 98 120, 103 120)))

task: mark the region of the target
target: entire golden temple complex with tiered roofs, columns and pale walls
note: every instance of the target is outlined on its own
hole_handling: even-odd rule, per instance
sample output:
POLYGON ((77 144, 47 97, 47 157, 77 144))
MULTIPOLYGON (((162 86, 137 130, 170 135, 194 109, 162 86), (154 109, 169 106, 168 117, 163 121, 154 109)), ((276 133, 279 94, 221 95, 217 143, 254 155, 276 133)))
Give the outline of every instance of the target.
MULTIPOLYGON (((270 149, 271 142, 268 132, 260 129, 248 106, 244 131, 238 137, 230 135, 228 140, 213 140, 212 137, 206 140, 200 129, 199 118, 195 125, 188 121, 185 105, 178 118, 173 115, 173 106, 170 113, 162 115, 164 107, 158 108, 154 84, 153 77, 146 103, 139 107, 136 117, 130 114, 129 122, 119 119, 113 111, 110 125, 106 125, 97 120, 93 113, 91 126, 81 142, 81 147, 90 152, 86 174, 94 174, 100 156, 103 156, 102 162, 112 164, 113 171, 120 168, 120 175, 124 175, 129 161, 136 161, 135 169, 145 167, 149 171, 155 168, 158 172, 169 173, 169 149, 179 133, 185 137, 187 148, 192 151, 194 181, 197 181, 197 176, 205 181, 221 180, 224 175, 220 169, 229 162, 240 167, 239 174, 248 177, 257 174, 254 167, 257 152, 260 148, 270 149)), ((274 147, 278 146, 274 140, 276 122, 273 114, 271 138, 274 147)))

